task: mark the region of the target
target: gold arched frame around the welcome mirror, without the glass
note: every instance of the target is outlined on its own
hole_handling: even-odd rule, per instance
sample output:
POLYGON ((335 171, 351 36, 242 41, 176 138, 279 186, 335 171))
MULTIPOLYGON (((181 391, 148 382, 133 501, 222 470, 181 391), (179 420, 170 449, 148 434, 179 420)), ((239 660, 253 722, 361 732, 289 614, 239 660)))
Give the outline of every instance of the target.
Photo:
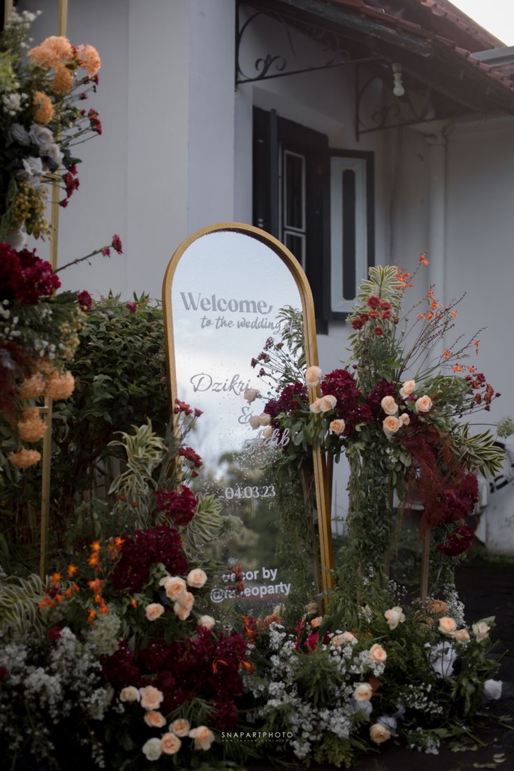
MULTIPOLYGON (((210 225, 209 227, 203 227, 200 231, 196 231, 186 238, 185 241, 174 251, 166 273, 164 274, 163 281, 163 316, 164 316, 164 341, 166 346, 166 372, 168 377, 168 384, 170 386, 170 404, 173 405, 174 399, 178 398, 176 389, 176 362, 175 362, 175 347, 173 342, 173 308, 171 300, 171 288, 173 284, 173 277, 175 275, 176 266, 179 264, 180 258, 183 256, 186 249, 193 244, 193 241, 197 241, 198 238, 210 233, 217 233, 220 231, 233 231, 235 233, 244 234, 252 238, 257 239, 261 243, 269 247, 277 257, 281 259, 286 265, 288 270, 293 275, 294 281, 297 284, 298 291, 301 297, 301 305, 304 318, 304 340, 305 340, 305 359, 307 367, 317 365, 317 338, 316 338, 316 321, 314 317, 314 301, 312 298, 312 291, 307 281, 307 276, 304 274, 304 270, 301 264, 294 257, 294 254, 287 249, 281 241, 270 235, 266 231, 260 230, 259 227, 253 225, 247 225, 240 222, 222 222, 219 224, 210 225)), ((309 401, 314 402, 319 396, 318 389, 309 389, 309 401)), ((331 531, 331 496, 328 490, 328 475, 327 466, 325 463, 324 453, 321 453, 319 449, 313 449, 313 462, 314 462, 314 483, 316 488, 316 508, 317 508, 317 523, 319 531, 320 542, 320 562, 321 562, 321 583, 324 591, 325 598, 328 591, 334 588, 334 557, 332 553, 332 531, 331 531)))

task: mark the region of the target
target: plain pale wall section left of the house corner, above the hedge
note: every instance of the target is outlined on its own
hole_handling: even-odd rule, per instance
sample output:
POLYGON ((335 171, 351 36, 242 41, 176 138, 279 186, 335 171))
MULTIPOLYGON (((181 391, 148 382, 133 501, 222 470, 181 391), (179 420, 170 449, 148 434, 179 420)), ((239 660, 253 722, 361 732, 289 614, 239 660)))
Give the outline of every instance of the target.
MULTIPOLYGON (((41 8, 35 43, 54 35, 41 8)), ((69 0, 68 37, 102 57, 102 136, 79 146, 80 188, 61 211, 59 263, 123 240, 123 256, 62 273, 65 288, 160 298, 171 254, 191 231, 233 219, 233 0, 69 0), (107 11, 108 9, 108 11, 107 11)), ((37 242, 42 256, 45 244, 37 242)))

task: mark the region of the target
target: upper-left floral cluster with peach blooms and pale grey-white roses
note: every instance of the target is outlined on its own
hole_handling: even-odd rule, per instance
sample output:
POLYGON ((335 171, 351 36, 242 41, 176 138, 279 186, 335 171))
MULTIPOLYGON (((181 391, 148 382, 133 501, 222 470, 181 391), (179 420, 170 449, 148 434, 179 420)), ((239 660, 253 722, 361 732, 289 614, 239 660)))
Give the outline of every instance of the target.
POLYGON ((62 36, 29 49, 34 19, 29 12, 13 12, 0 35, 0 241, 16 249, 25 246, 27 234, 49 234, 46 185, 59 183, 65 192, 59 203, 66 207, 79 187, 80 159, 72 148, 102 133, 96 109, 76 104, 96 91, 98 52, 92 45, 75 47, 62 36), (66 170, 62 178, 59 167, 66 170))

